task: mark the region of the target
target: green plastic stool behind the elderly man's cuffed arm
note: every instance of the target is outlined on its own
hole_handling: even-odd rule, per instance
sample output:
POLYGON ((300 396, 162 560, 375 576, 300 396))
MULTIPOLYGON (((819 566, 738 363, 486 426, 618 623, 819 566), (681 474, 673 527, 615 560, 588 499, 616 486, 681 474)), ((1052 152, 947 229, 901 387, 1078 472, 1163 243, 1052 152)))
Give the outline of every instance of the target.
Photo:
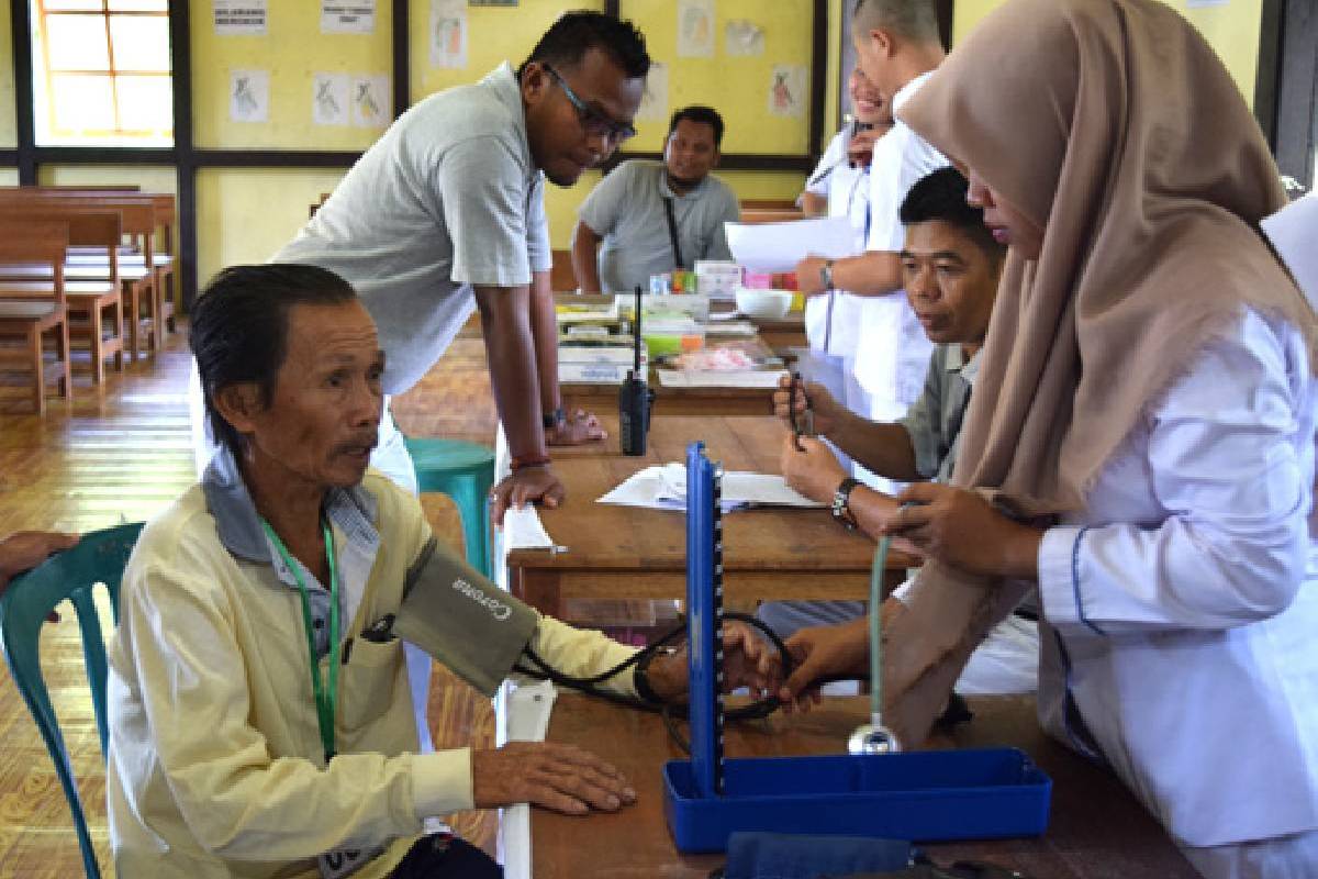
POLYGON ((490 576, 489 497, 494 486, 494 451, 478 443, 406 439, 422 493, 443 492, 463 518, 467 564, 490 576))

